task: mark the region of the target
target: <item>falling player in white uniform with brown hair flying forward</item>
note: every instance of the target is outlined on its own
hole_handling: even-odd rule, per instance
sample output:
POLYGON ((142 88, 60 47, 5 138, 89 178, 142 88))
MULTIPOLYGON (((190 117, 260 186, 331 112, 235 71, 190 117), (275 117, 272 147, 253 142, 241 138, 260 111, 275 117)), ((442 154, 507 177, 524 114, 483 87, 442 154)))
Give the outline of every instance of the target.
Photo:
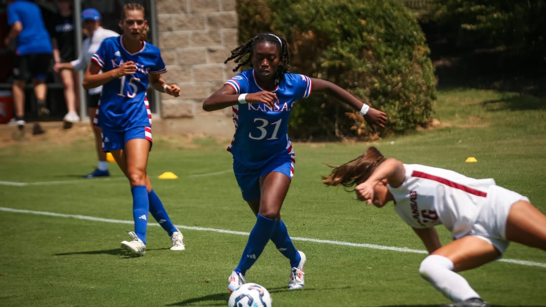
POLYGON ((396 213, 423 241, 430 255, 419 273, 452 299, 447 307, 486 307, 459 274, 501 257, 511 241, 546 250, 546 215, 529 198, 442 168, 385 159, 375 148, 323 177, 326 185, 355 187, 357 197, 396 213), (453 241, 441 245, 434 226, 443 224, 453 241))

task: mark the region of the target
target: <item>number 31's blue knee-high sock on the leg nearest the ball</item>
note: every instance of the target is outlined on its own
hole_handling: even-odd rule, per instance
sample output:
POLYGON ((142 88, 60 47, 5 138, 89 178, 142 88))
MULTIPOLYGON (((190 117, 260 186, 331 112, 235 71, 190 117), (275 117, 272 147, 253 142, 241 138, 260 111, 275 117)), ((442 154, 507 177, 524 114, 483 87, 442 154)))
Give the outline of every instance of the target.
POLYGON ((252 264, 262 254, 265 244, 271 238, 271 234, 275 230, 275 224, 277 224, 276 219, 268 219, 258 213, 256 224, 254 224, 248 236, 248 242, 246 243, 245 250, 242 252, 241 261, 239 261, 239 265, 235 268, 235 272, 245 275, 246 271, 252 267, 252 264))

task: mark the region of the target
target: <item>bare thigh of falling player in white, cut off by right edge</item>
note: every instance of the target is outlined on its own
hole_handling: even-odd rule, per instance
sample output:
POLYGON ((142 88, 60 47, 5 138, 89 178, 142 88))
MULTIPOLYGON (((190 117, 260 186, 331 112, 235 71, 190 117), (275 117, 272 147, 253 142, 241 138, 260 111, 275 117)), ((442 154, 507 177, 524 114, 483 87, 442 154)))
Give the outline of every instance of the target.
POLYGON ((506 238, 546 250, 546 215, 529 202, 514 203, 506 221, 506 238))

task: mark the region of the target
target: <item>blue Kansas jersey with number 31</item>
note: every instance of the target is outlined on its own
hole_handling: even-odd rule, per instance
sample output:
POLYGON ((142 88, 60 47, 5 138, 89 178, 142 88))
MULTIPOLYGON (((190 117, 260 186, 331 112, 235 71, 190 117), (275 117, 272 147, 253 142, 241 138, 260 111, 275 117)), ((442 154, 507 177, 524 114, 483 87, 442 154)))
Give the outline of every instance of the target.
MULTIPOLYGON (((248 69, 225 82, 237 94, 265 91, 258 86, 254 69, 248 69)), ((304 75, 284 74, 284 80, 272 91, 278 104, 234 105, 235 134, 228 151, 233 158, 248 167, 262 167, 276 155, 292 153, 288 138, 288 118, 296 100, 311 94, 311 79, 304 75)))

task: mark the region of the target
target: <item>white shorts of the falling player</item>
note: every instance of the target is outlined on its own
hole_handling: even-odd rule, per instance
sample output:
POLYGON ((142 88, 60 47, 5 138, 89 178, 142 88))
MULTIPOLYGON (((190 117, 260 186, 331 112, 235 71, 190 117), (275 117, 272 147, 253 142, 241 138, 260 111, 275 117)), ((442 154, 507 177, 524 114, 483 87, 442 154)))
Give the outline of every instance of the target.
POLYGON ((483 239, 504 254, 510 243, 506 239, 508 213, 514 203, 522 200, 529 202, 529 198, 517 192, 492 185, 468 236, 483 239))

